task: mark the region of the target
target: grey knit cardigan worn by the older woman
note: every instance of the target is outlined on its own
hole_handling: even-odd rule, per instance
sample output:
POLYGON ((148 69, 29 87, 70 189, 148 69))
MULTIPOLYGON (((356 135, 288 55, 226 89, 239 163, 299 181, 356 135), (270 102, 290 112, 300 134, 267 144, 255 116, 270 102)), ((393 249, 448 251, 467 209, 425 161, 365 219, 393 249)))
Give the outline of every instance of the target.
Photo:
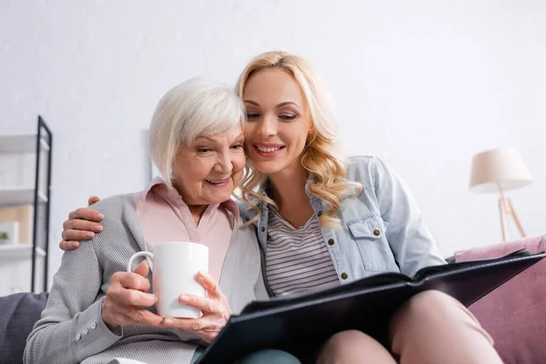
MULTIPOLYGON (((189 363, 198 339, 181 329, 127 325, 110 331, 101 316, 102 298, 116 271, 125 271, 137 251, 150 250, 136 217, 133 195, 106 198, 104 231, 67 251, 42 318, 26 341, 25 363, 189 363), (126 360, 125 360, 126 361, 126 360)), ((256 227, 235 224, 220 278, 234 313, 253 299, 267 299, 256 227)), ((134 263, 134 268, 139 261, 134 263)), ((150 272, 148 278, 151 282, 150 272)), ((156 313, 155 308, 150 311, 156 313)))

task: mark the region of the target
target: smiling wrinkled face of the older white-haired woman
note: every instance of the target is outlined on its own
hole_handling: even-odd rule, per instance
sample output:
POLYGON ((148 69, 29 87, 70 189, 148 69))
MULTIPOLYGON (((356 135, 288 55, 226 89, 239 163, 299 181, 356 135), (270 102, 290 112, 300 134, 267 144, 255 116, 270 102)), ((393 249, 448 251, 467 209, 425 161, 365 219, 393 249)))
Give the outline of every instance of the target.
POLYGON ((178 148, 172 176, 187 205, 217 204, 230 197, 245 167, 243 143, 243 130, 236 126, 178 148))

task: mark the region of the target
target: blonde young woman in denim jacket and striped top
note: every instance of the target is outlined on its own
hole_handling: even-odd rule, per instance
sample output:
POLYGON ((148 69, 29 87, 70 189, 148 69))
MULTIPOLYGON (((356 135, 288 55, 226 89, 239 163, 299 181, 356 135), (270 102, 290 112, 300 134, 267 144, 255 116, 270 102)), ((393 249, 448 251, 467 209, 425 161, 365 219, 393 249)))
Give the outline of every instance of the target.
MULTIPOLYGON (((377 157, 339 156, 335 117, 306 60, 282 52, 260 55, 239 77, 237 91, 248 119, 245 203, 239 208, 257 228, 269 296, 445 264, 396 173, 377 157)), ((93 214, 88 208, 71 213, 61 248, 77 246, 81 234, 99 228, 93 214)), ((437 291, 399 308, 389 335, 384 348, 363 332, 339 332, 317 360, 501 363, 470 311, 437 291)))

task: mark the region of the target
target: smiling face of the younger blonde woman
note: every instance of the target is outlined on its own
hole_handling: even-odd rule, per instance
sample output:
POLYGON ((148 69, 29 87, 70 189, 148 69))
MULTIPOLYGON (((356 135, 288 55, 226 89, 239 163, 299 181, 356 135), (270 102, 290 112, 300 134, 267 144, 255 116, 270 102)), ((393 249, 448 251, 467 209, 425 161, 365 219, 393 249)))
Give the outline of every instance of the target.
POLYGON ((248 157, 262 173, 300 169, 300 157, 313 127, 298 82, 278 68, 249 77, 243 92, 248 122, 248 157))

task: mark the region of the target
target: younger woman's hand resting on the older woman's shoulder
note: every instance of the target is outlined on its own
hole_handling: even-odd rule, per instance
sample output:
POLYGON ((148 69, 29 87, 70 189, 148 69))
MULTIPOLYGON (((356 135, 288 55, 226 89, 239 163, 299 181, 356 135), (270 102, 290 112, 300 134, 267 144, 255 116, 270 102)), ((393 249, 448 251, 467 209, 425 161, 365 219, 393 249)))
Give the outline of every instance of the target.
MULTIPOLYGON (((89 197, 88 204, 93 205, 100 201, 96 196, 89 197)), ((95 233, 103 230, 98 222, 104 216, 91 208, 81 207, 68 214, 68 219, 63 223, 63 240, 59 248, 63 250, 74 250, 79 247, 78 240, 89 240, 95 238, 95 233)))

